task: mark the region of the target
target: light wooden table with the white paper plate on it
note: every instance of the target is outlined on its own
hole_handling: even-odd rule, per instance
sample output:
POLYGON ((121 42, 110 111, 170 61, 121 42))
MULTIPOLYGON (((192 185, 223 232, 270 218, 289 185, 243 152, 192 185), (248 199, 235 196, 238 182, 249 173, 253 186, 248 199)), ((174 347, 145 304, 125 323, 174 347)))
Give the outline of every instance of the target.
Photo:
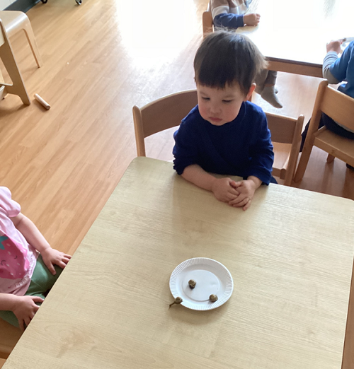
POLYGON ((281 185, 234 209, 136 158, 4 369, 340 369, 353 214, 281 185), (171 272, 192 257, 227 266, 227 303, 169 309, 171 272))

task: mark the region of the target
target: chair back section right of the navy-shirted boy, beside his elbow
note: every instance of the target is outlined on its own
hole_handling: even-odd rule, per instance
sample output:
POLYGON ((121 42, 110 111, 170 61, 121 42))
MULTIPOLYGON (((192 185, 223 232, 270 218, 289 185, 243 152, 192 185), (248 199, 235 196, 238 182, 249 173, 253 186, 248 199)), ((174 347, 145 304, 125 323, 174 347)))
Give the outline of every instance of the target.
POLYGON ((275 145, 273 175, 284 180, 284 185, 290 186, 295 175, 299 156, 304 116, 299 115, 295 119, 271 113, 265 113, 265 115, 267 116, 271 139, 275 145), (285 151, 278 151, 276 144, 287 144, 287 147, 285 151))

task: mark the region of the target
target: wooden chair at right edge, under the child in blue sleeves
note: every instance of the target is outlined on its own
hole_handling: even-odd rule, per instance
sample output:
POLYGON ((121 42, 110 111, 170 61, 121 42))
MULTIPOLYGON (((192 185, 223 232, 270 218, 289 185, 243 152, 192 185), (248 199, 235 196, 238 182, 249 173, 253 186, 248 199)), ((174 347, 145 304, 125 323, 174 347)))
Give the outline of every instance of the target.
POLYGON ((329 153, 328 162, 335 157, 354 166, 354 140, 338 136, 326 127, 319 129, 321 114, 324 112, 336 122, 354 131, 354 99, 328 85, 328 81, 321 81, 319 84, 304 149, 295 174, 295 182, 304 177, 313 146, 329 153))

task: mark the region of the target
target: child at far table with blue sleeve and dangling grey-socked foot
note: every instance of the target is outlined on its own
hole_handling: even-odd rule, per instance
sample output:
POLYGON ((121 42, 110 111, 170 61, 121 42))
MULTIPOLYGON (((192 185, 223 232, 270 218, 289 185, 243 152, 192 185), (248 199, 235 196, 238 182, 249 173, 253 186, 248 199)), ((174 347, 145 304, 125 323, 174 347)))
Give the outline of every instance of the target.
MULTIPOLYGON (((215 28, 227 28, 236 30, 244 25, 258 25, 261 16, 257 13, 244 14, 252 0, 211 0, 210 10, 215 28)), ((278 90, 275 88, 277 71, 263 69, 256 76, 256 93, 273 105, 282 108, 277 97, 278 90)))

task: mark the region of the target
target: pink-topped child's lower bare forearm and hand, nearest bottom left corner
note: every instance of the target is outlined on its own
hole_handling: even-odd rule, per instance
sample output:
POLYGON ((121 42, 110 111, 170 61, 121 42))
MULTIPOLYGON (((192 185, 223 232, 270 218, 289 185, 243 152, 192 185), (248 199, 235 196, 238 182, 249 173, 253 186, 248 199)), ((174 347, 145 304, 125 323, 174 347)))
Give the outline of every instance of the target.
POLYGON ((40 308, 35 303, 42 302, 43 299, 39 296, 17 296, 11 293, 0 293, 0 310, 12 311, 18 319, 22 331, 25 329, 25 325, 30 324, 40 308))

